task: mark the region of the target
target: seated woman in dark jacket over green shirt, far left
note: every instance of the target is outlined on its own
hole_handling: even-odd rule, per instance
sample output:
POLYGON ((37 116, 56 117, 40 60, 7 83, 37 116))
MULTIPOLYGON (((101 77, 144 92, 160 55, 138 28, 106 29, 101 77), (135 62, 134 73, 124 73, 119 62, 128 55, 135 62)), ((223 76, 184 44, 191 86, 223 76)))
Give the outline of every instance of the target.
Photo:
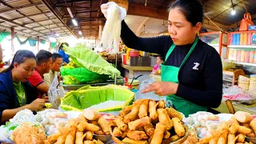
POLYGON ((45 106, 37 99, 27 79, 34 72, 36 58, 30 50, 18 50, 6 70, 0 73, 0 125, 13 118, 19 110, 39 110, 45 106))

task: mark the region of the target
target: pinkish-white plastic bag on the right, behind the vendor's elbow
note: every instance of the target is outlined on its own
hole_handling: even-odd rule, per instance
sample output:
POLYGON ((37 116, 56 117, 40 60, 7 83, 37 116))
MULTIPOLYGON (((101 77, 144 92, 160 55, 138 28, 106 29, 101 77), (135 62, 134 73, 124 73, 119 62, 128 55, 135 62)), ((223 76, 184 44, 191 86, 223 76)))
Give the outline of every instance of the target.
POLYGON ((231 86, 230 88, 224 90, 223 93, 223 101, 230 99, 239 103, 251 104, 251 102, 255 99, 254 97, 250 97, 250 94, 242 90, 242 88, 240 88, 239 86, 231 86))

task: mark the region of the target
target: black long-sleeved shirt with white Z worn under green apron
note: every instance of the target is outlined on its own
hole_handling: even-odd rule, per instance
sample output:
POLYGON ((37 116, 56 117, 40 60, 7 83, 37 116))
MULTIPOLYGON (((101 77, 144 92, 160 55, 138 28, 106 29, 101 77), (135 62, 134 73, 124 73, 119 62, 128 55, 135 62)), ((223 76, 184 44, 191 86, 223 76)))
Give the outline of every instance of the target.
MULTIPOLYGON (((170 36, 154 38, 137 37, 126 22, 122 21, 122 42, 126 46, 166 56, 172 42, 170 36)), ((166 60, 168 66, 180 66, 192 44, 176 46, 166 60)), ((216 108, 222 101, 222 62, 218 52, 205 42, 198 40, 193 52, 178 74, 177 96, 200 106, 216 108)))

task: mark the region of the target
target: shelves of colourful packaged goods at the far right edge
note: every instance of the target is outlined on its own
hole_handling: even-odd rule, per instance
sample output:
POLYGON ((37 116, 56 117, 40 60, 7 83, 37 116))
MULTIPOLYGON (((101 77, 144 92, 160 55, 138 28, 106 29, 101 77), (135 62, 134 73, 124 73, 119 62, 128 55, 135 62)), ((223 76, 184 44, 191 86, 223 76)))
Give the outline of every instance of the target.
POLYGON ((228 34, 228 59, 238 65, 256 66, 256 31, 228 34))

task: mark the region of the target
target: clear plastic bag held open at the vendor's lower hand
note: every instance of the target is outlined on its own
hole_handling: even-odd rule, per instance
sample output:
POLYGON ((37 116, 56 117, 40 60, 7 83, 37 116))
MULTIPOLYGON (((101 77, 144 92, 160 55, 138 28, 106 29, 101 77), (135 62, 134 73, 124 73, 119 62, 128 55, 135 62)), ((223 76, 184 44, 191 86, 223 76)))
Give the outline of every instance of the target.
POLYGON ((142 90, 149 86, 150 84, 154 83, 154 77, 146 79, 139 85, 138 92, 135 94, 135 100, 137 99, 153 99, 154 101, 164 100, 166 102, 166 96, 159 96, 158 94, 154 94, 154 91, 146 94, 142 94, 142 90))

